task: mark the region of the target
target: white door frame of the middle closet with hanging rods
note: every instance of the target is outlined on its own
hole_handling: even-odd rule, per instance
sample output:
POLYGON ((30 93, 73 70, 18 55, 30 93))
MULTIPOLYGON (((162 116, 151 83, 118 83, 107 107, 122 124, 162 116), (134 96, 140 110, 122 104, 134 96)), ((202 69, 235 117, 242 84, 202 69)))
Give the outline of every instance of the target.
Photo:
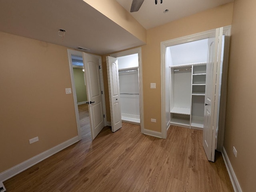
MULTIPOLYGON (((127 55, 132 55, 138 53, 138 72, 139 72, 139 98, 140 98, 140 130, 144 133, 144 110, 143 110, 143 86, 142 86, 142 57, 141 57, 141 47, 136 49, 130 49, 127 51, 122 51, 118 53, 111 54, 111 57, 123 57, 127 55)), ((122 106, 121 106, 122 107, 122 106)))

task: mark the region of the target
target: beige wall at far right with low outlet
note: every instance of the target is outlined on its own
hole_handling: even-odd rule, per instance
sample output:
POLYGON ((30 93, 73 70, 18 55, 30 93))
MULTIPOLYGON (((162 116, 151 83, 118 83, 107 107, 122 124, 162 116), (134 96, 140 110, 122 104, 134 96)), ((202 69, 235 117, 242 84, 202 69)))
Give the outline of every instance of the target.
POLYGON ((243 192, 256 191, 255 8, 254 0, 234 2, 228 70, 224 148, 243 192))

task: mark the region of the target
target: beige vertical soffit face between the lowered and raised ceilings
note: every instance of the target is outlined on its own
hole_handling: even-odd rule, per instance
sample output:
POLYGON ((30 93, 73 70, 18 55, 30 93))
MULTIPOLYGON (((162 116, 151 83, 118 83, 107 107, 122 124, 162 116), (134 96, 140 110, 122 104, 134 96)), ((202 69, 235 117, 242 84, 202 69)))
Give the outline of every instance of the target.
POLYGON ((84 0, 84 2, 146 43, 146 29, 116 0, 84 0))

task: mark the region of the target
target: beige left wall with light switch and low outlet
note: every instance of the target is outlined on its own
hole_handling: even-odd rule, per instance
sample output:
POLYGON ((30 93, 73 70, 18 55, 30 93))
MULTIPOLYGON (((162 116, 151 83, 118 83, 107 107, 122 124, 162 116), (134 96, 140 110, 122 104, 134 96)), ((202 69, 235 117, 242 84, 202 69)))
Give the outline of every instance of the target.
POLYGON ((66 47, 0 32, 0 172, 77 135, 66 47), (39 141, 28 140, 38 136, 39 141))

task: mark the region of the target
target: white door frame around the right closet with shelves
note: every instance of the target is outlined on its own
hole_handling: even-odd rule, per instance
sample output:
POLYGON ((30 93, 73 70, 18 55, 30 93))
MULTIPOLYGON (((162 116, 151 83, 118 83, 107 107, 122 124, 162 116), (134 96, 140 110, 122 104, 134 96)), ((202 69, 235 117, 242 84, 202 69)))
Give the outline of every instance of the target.
MULTIPOLYGON (((161 42, 161 132, 162 132, 162 138, 164 138, 164 139, 166 139, 166 137, 167 137, 167 128, 168 128, 168 125, 170 125, 170 121, 168 123, 166 123, 166 92, 169 91, 166 89, 166 62, 165 62, 166 48, 170 47, 172 45, 178 45, 178 44, 187 43, 190 41, 206 39, 206 38, 210 37, 210 35, 212 34, 213 31, 215 31, 215 29, 161 42)), ((225 34, 227 36, 230 36, 230 31, 231 31, 231 25, 223 28, 223 34, 225 34)), ((226 53, 224 52, 224 55, 227 55, 227 54, 228 54, 228 51, 226 50, 226 53)), ((223 66, 224 65, 227 66, 228 60, 226 60, 226 58, 224 60, 225 61, 223 61, 223 62, 225 62, 225 63, 223 63, 223 66)), ((227 70, 223 72, 224 76, 226 75, 226 72, 227 72, 227 70)), ((226 78, 224 78, 223 80, 227 81, 226 78)), ((226 82, 224 82, 224 84, 226 84, 226 82)), ((226 105, 226 103, 225 103, 225 105, 226 105)), ((223 109, 223 112, 225 112, 224 109, 223 109)), ((224 135, 224 124, 225 124, 225 121, 222 119, 222 126, 219 127, 219 131, 223 135, 224 135)), ((223 145, 223 141, 222 141, 222 145, 223 145)))

